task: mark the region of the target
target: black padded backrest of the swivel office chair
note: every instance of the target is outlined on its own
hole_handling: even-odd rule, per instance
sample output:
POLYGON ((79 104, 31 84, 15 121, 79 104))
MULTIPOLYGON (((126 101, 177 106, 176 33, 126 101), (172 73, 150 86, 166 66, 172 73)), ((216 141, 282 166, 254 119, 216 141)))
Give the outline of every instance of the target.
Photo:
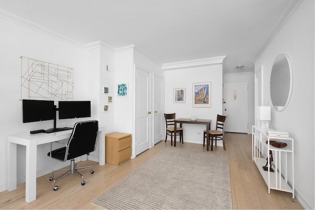
POLYGON ((68 141, 66 159, 88 154, 96 149, 98 121, 89 120, 76 122, 68 141))

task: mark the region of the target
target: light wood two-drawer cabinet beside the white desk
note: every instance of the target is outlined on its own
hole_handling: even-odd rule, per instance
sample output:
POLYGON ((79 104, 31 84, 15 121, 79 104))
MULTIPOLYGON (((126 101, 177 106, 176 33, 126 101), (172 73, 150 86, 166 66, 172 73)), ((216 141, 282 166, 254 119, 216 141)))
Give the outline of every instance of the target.
POLYGON ((105 162, 118 166, 131 157, 131 134, 108 133, 105 135, 105 162))

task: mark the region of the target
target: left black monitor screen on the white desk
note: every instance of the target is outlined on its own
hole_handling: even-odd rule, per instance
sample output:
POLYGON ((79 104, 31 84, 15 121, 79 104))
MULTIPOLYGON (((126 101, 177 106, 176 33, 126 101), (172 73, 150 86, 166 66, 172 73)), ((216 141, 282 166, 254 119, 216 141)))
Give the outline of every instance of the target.
POLYGON ((56 117, 55 109, 54 101, 23 99, 23 122, 54 120, 56 117))

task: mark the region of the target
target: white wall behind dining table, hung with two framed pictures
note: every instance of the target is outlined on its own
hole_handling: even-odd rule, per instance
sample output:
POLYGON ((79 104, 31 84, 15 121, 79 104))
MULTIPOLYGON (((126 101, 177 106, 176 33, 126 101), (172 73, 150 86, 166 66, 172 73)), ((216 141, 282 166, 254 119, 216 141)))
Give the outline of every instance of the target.
MULTIPOLYGON (((222 63, 164 71, 164 113, 176 113, 176 118, 211 119, 215 129, 217 115, 222 114, 222 63), (211 82, 211 108, 192 107, 193 83, 211 82), (174 88, 186 89, 186 102, 174 103, 174 88)), ((204 125, 183 124, 184 141, 203 144, 204 125), (197 134, 200 132, 200 134, 197 134)), ((169 139, 170 140, 170 139, 169 139)), ((221 141, 218 142, 218 145, 221 141)))

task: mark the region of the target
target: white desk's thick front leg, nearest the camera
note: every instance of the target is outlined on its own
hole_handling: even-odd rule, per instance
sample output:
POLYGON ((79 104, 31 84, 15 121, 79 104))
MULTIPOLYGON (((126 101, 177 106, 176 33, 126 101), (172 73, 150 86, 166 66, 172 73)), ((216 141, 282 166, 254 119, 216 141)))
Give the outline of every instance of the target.
POLYGON ((36 200, 36 160, 37 144, 34 141, 26 146, 25 201, 28 203, 36 200))

